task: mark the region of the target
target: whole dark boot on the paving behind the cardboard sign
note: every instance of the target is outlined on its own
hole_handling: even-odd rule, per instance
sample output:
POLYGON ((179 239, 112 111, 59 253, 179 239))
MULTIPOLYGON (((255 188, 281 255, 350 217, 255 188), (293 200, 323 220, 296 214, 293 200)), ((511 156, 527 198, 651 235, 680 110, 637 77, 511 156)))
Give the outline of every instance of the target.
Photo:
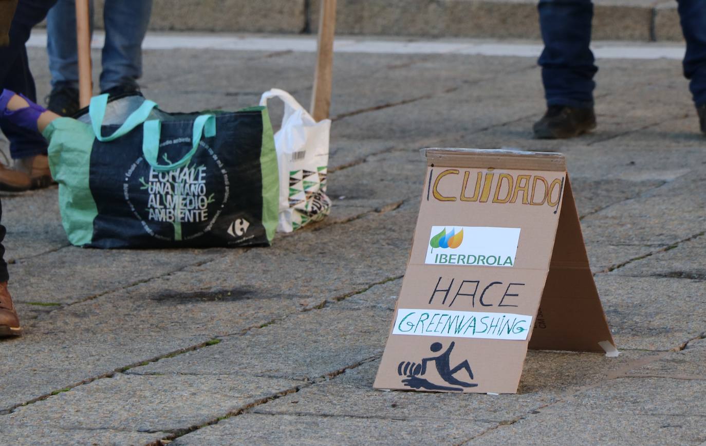
POLYGON ((542 119, 534 123, 534 137, 539 139, 573 138, 596 128, 593 107, 578 108, 550 105, 542 119))

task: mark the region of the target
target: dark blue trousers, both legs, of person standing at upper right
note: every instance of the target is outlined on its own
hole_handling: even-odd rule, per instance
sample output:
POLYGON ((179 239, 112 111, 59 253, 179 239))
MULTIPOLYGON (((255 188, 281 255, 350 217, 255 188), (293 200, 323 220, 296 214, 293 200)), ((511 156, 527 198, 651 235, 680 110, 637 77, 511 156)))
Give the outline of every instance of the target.
MULTIPOLYGON (((684 76, 694 103, 706 104, 706 0, 677 0, 686 39, 684 76)), ((591 0, 540 0, 544 51, 539 56, 547 105, 592 107, 598 71, 591 42, 591 0)))

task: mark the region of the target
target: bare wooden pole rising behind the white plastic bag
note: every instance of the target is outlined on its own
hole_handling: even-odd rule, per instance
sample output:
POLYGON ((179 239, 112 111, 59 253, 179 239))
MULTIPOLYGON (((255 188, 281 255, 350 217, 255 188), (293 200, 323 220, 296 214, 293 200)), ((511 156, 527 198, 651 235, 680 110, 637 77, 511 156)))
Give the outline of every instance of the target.
POLYGON ((336 29, 336 0, 321 0, 318 22, 316 72, 311 93, 311 116, 316 121, 328 118, 331 107, 333 37, 336 29))

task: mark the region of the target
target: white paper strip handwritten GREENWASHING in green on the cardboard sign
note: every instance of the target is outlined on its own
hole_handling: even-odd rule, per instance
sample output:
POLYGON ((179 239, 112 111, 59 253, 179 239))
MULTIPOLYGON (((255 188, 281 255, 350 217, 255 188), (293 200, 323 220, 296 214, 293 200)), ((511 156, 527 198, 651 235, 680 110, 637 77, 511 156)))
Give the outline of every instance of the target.
POLYGON ((530 315, 400 308, 397 311, 393 335, 524 341, 530 333, 530 327, 530 315))

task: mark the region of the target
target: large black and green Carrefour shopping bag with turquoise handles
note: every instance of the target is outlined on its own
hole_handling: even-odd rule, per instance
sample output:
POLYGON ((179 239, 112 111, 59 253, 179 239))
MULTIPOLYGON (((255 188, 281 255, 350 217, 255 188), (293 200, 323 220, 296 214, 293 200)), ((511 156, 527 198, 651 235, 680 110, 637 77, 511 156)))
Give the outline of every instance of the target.
POLYGON ((44 130, 68 240, 96 248, 268 245, 277 155, 268 111, 167 113, 92 98, 44 130))

